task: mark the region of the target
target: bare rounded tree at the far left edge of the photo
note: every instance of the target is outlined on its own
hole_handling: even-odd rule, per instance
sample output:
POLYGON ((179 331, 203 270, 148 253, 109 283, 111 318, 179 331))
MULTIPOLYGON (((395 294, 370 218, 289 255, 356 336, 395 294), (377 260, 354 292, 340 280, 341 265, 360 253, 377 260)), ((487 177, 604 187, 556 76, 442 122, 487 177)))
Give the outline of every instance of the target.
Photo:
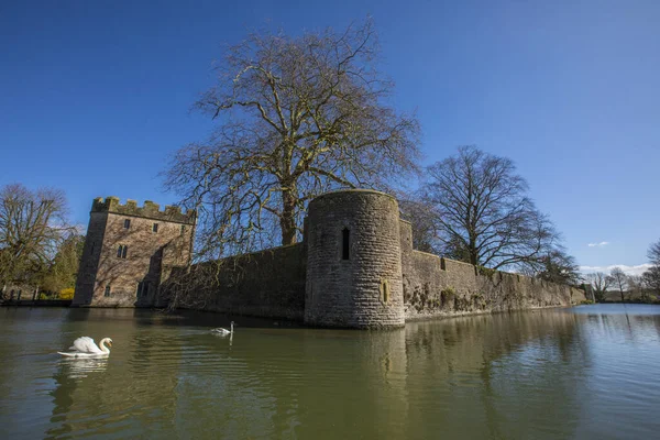
POLYGON ((0 189, 0 286, 31 283, 47 271, 59 243, 74 229, 66 199, 56 189, 31 191, 20 184, 0 189))

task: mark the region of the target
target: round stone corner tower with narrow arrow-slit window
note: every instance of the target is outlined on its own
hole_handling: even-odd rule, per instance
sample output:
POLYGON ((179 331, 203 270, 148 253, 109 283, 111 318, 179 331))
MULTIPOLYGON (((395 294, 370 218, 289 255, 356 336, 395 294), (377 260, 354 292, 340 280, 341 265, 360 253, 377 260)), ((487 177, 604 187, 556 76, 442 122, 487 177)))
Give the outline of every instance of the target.
POLYGON ((365 189, 323 194, 309 204, 307 229, 305 323, 405 324, 394 197, 365 189))

